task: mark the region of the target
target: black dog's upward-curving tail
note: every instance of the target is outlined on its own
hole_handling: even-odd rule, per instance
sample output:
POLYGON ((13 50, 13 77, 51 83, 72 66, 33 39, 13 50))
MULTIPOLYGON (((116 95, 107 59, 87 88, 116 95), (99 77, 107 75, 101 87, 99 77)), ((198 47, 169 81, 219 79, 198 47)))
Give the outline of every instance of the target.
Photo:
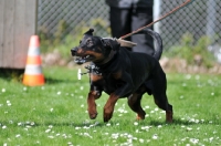
POLYGON ((159 60, 161 54, 162 54, 162 39, 161 36, 159 35, 159 33, 150 30, 150 29, 144 29, 141 30, 140 32, 136 33, 136 34, 140 34, 140 33, 146 33, 146 34, 149 34, 154 38, 155 40, 155 53, 154 53, 154 58, 159 60))

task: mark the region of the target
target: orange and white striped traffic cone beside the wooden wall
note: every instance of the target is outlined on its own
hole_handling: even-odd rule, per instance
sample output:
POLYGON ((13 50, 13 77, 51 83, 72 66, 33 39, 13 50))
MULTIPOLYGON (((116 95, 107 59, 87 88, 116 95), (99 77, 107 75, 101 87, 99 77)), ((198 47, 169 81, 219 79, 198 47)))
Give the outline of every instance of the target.
POLYGON ((40 42, 38 35, 32 35, 30 39, 23 84, 28 86, 44 84, 40 56, 40 42))

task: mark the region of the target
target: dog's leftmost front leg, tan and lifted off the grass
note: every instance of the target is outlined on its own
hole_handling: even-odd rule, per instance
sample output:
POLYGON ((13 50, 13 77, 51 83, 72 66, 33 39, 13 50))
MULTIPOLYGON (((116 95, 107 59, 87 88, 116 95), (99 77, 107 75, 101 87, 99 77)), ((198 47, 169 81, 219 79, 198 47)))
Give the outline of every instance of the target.
POLYGON ((87 111, 91 119, 95 119, 97 116, 97 111, 96 111, 96 103, 95 100, 101 97, 101 92, 99 91, 91 91, 87 96, 87 111))

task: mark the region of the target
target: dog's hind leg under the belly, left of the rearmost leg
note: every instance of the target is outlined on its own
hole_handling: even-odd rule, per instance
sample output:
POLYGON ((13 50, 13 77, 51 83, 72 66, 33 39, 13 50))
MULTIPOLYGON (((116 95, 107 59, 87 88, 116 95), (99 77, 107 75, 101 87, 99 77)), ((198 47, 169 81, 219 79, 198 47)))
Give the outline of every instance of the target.
POLYGON ((145 119, 145 111, 143 109, 140 102, 143 94, 146 92, 146 86, 141 85, 135 93, 128 97, 129 107, 137 113, 137 119, 145 119))

